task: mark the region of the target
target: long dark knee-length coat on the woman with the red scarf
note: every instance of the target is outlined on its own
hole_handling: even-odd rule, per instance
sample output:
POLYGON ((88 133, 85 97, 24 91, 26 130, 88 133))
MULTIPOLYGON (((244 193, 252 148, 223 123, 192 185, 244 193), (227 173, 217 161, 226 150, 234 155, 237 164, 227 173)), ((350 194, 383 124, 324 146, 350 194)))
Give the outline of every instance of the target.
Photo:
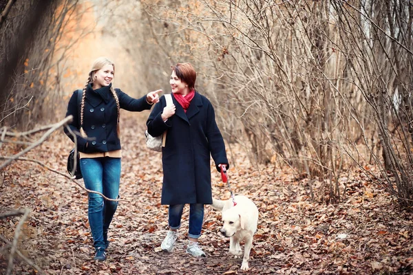
POLYGON ((211 102, 195 92, 187 110, 173 98, 176 113, 166 122, 161 118, 166 106, 165 96, 153 107, 147 120, 153 137, 167 130, 162 148, 162 204, 212 203, 211 155, 218 164, 228 164, 224 139, 215 122, 211 102))

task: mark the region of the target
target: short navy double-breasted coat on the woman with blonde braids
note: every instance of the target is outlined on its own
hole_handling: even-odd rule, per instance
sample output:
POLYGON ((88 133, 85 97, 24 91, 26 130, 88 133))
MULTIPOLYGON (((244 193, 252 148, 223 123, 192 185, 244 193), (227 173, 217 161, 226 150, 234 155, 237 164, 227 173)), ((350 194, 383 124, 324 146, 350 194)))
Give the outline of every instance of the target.
MULTIPOLYGON (((112 85, 112 84, 111 84, 112 85)), ((98 153, 108 152, 120 149, 120 140, 116 127, 118 125, 118 109, 116 101, 112 96, 109 87, 102 87, 100 89, 92 89, 89 84, 86 88, 85 107, 83 109, 83 130, 87 134, 87 139, 81 137, 78 132, 79 129, 79 115, 78 109, 78 90, 74 91, 72 98, 67 105, 68 115, 73 115, 73 121, 70 123, 70 129, 76 133, 78 142, 78 151, 83 153, 98 153), (86 148, 86 142, 89 141, 86 148)), ((142 98, 131 98, 120 89, 115 89, 118 95, 119 105, 121 109, 127 111, 143 111, 151 109, 152 105, 146 100, 146 95, 142 98)), ((65 133, 72 141, 73 135, 67 129, 65 133)))

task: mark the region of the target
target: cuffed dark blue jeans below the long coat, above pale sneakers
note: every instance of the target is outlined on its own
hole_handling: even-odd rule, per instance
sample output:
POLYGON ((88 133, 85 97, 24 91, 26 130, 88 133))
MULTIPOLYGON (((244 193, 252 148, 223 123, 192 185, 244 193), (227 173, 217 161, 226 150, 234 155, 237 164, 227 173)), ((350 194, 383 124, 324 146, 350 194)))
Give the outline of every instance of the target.
MULTIPOLYGON (((169 206, 169 228, 179 229, 184 204, 169 206)), ((204 205, 202 203, 189 204, 189 234, 193 239, 201 236, 202 223, 204 221, 204 205)))

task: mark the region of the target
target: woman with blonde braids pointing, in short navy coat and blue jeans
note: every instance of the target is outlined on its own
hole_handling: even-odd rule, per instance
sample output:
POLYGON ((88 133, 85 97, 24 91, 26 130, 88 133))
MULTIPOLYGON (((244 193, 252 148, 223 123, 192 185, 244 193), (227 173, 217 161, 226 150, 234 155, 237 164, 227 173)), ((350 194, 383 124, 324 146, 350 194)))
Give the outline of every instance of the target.
MULTIPOLYGON (((66 113, 66 116, 73 115, 70 128, 76 133, 85 187, 101 192, 109 199, 117 199, 119 194, 122 157, 119 139, 120 109, 149 110, 153 103, 159 101, 158 92, 162 91, 151 91, 139 99, 131 98, 120 89, 112 87, 114 74, 114 63, 104 57, 97 58, 83 88, 80 114, 77 90, 70 98, 66 113)), ((74 141, 74 137, 66 129, 65 133, 74 141)), ((106 201, 95 193, 89 193, 88 196, 87 216, 96 250, 94 260, 105 261, 109 246, 107 230, 118 202, 106 201)))

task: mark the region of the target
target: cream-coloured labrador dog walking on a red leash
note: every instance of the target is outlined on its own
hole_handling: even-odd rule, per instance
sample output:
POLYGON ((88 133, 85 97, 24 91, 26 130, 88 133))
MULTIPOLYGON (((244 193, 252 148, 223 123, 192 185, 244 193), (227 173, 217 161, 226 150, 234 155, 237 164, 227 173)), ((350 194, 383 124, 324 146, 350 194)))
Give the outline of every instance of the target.
POLYGON ((212 207, 222 212, 222 228, 220 232, 230 237, 229 253, 238 256, 242 255, 240 241, 244 241, 244 258, 242 259, 241 270, 248 270, 248 259, 253 247, 253 235, 257 231, 258 208, 255 203, 245 196, 235 196, 234 206, 232 199, 220 201, 213 199, 212 207))

